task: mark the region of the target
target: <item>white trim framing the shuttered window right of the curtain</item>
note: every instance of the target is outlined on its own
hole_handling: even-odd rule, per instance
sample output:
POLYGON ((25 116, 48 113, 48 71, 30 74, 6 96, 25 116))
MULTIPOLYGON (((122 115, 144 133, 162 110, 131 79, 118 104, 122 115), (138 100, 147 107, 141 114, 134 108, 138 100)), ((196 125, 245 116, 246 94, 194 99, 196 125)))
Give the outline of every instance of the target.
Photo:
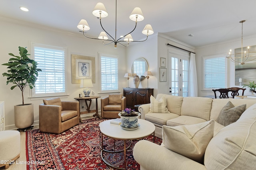
POLYGON ((225 87, 224 88, 227 88, 227 85, 228 85, 228 61, 227 61, 227 58, 226 58, 226 53, 221 53, 221 54, 214 54, 214 55, 207 55, 207 56, 202 56, 202 91, 212 91, 212 89, 214 88, 204 88, 204 61, 205 59, 214 59, 214 58, 222 58, 224 57, 225 59, 225 87))

